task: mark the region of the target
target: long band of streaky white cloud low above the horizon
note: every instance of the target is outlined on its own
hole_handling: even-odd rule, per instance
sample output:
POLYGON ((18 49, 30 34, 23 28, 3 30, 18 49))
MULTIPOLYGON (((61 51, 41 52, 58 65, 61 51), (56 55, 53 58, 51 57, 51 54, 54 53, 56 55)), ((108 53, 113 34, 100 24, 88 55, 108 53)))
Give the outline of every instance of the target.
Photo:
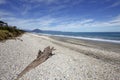
MULTIPOLYGON (((53 18, 44 16, 36 19, 23 19, 14 17, 5 17, 4 21, 10 25, 18 26, 23 29, 40 28, 44 30, 58 30, 58 31, 79 31, 84 29, 94 29, 101 27, 118 27, 120 26, 120 15, 113 17, 108 21, 96 21, 94 19, 72 19, 72 18, 53 18)), ((104 30, 104 29, 103 29, 104 30)), ((84 31, 84 30, 83 30, 84 31)))

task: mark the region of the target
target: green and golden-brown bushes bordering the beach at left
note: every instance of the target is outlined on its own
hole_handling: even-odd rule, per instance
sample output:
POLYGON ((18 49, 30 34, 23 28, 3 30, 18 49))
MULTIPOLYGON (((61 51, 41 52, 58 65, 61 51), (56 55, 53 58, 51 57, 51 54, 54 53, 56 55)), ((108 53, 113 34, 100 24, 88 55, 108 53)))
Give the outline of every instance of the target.
POLYGON ((0 21, 0 41, 15 38, 23 33, 24 31, 16 26, 9 26, 7 23, 0 21))

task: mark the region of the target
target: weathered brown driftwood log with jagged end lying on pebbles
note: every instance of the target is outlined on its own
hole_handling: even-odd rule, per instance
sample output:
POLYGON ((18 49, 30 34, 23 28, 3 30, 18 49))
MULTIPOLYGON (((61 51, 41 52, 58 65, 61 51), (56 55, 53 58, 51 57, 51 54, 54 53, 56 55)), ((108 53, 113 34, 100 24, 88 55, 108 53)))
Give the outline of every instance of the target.
POLYGON ((38 65, 40 65, 41 63, 43 63, 44 61, 46 61, 50 56, 52 56, 52 51, 54 51, 54 47, 50 48, 50 46, 46 47, 44 49, 44 51, 42 52, 41 50, 39 50, 37 58, 32 61, 18 76, 16 80, 19 80, 19 78, 21 78, 24 74, 26 74, 28 71, 30 71, 31 69, 37 67, 38 65))

